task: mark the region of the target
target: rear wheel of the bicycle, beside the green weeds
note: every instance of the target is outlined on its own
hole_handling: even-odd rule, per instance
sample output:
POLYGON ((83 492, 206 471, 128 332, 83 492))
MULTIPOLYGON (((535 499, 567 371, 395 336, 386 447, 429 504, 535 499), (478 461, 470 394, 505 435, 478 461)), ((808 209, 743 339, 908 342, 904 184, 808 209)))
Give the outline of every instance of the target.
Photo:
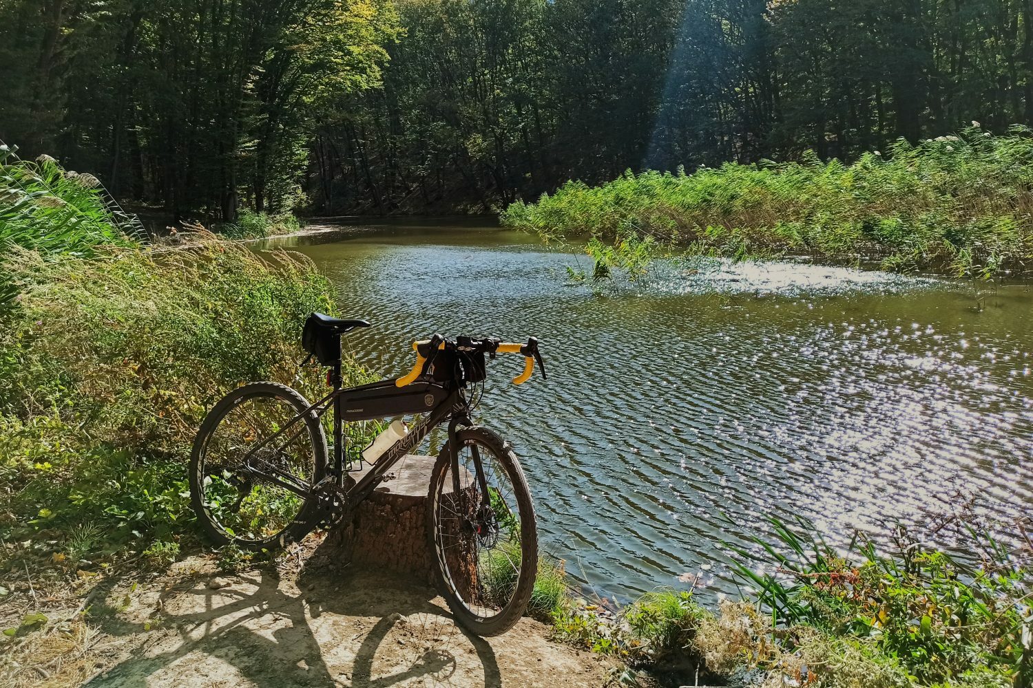
POLYGON ((316 519, 307 492, 326 470, 326 436, 309 402, 284 385, 252 383, 209 413, 190 457, 190 500, 216 545, 300 540, 316 519), (293 489, 290 489, 290 487, 293 489))

